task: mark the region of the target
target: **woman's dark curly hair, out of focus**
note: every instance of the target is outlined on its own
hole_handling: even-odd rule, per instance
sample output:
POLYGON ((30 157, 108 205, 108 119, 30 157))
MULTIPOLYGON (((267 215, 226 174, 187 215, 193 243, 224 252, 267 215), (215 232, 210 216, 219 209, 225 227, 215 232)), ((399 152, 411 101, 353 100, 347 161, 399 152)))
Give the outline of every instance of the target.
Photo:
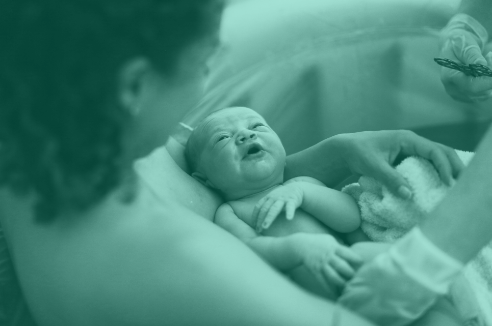
POLYGON ((45 222, 105 197, 123 168, 119 69, 146 56, 172 74, 182 51, 211 32, 215 3, 1 1, 0 186, 34 191, 45 222))

